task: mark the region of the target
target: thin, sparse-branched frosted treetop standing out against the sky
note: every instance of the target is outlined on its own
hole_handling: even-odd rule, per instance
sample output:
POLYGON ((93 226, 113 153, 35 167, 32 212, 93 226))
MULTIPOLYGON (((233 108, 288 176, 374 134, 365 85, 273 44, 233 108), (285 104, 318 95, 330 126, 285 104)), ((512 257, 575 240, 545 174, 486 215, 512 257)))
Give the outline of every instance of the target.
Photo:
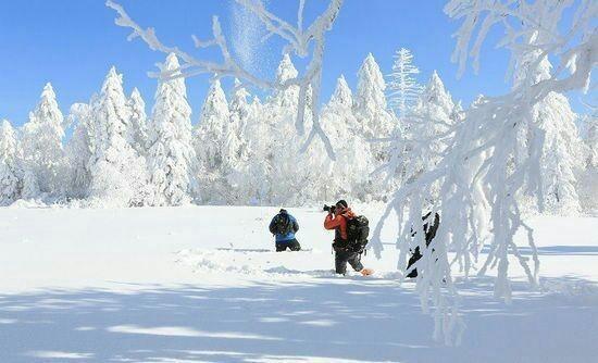
POLYGON ((397 50, 393 58, 395 62, 387 85, 388 104, 399 117, 404 117, 422 91, 415 79, 420 70, 413 64, 413 54, 409 49, 397 50))

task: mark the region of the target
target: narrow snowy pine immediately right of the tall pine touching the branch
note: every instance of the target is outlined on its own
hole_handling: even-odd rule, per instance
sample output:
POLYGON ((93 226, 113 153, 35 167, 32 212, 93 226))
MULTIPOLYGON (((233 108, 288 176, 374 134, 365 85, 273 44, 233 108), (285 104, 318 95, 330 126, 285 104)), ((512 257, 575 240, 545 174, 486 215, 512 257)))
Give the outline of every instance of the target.
POLYGON ((198 175, 201 200, 226 202, 226 172, 234 155, 228 153, 231 127, 228 102, 219 79, 212 82, 195 132, 195 149, 200 161, 198 175))

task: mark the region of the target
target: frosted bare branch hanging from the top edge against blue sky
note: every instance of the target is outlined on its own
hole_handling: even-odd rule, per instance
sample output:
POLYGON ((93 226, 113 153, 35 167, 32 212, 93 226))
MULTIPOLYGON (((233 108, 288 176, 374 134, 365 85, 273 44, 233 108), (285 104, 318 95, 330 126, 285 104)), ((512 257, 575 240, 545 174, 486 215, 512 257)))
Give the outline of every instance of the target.
POLYGON ((267 29, 270 37, 277 35, 283 38, 287 46, 284 52, 295 52, 299 57, 308 57, 311 52, 311 59, 303 75, 296 76, 285 80, 282 84, 263 79, 244 68, 239 62, 231 53, 226 38, 222 32, 217 16, 212 18, 212 39, 200 40, 197 36, 192 36, 194 43, 197 48, 217 47, 222 55, 222 62, 210 62, 198 59, 195 55, 183 51, 178 47, 164 45, 155 35, 155 30, 151 27, 142 28, 130 18, 125 9, 119 3, 108 0, 107 7, 113 9, 117 13, 115 24, 132 29, 128 39, 140 38, 151 50, 164 53, 174 53, 180 60, 180 67, 161 74, 151 74, 151 76, 161 78, 172 77, 191 77, 199 74, 213 74, 215 78, 236 77, 244 79, 257 87, 267 89, 284 90, 291 86, 299 86, 299 108, 297 112, 296 128, 299 135, 304 134, 306 123, 306 101, 308 99, 307 90, 312 89, 313 107, 311 108, 312 124, 310 134, 302 147, 306 150, 313 139, 317 136, 325 146, 325 149, 331 159, 335 159, 334 148, 320 125, 320 88, 322 83, 322 61, 324 57, 324 37, 332 29, 332 26, 342 7, 344 0, 331 0, 326 10, 316 17, 316 20, 303 30, 303 10, 304 0, 300 0, 298 9, 297 26, 291 25, 285 20, 271 13, 261 1, 254 0, 235 0, 240 5, 251 11, 267 29), (312 47, 313 45, 313 47, 312 47))

